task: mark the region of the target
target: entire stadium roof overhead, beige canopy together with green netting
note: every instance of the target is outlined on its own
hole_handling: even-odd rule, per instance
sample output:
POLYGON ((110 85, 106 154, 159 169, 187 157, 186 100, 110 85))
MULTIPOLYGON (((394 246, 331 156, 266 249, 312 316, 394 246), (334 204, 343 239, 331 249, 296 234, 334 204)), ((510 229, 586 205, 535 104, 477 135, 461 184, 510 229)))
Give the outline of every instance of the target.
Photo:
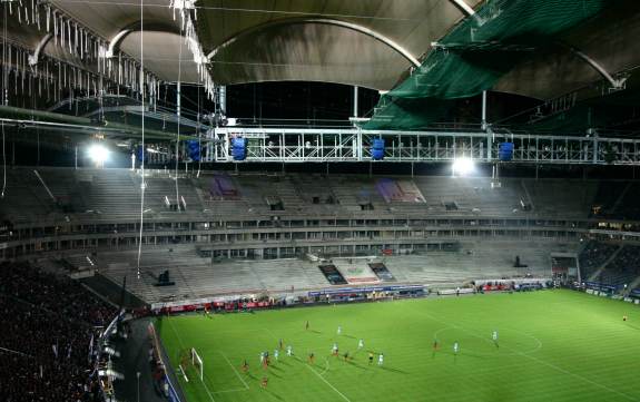
MULTIPOLYGON (((177 80, 209 87, 211 82, 307 80, 392 90, 378 105, 382 120, 374 116, 372 128, 423 127, 435 116, 412 120, 412 110, 435 110, 442 105, 435 107, 434 101, 484 89, 541 100, 594 85, 598 89, 585 98, 609 94, 610 88, 632 91, 636 80, 630 77, 640 65, 638 1, 145 0, 141 7, 138 0, 51 0, 36 4, 4 2, 12 9, 4 27, 8 40, 30 57, 41 50, 40 57, 88 71, 87 82, 97 82, 100 71, 107 71, 119 85, 141 87, 130 71, 139 67, 144 52, 144 68, 152 77, 146 78, 147 87, 177 80), (55 33, 52 38, 48 32, 55 33), (88 33, 96 42, 96 58, 80 50, 87 48, 82 37, 88 33), (444 60, 440 72, 431 71, 434 60, 444 60), (130 77, 122 78, 122 71, 130 77)), ((14 62, 20 60, 16 57, 14 62)), ((39 68, 38 61, 36 57, 32 70, 39 68)))

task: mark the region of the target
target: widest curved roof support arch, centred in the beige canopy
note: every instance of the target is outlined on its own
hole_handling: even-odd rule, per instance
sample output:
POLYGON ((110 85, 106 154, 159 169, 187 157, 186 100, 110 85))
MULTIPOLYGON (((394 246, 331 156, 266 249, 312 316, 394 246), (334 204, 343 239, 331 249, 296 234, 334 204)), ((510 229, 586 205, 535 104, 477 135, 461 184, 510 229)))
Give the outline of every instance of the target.
POLYGON ((262 26, 249 28, 245 31, 242 31, 242 32, 230 37, 229 39, 227 39, 223 43, 218 45, 214 50, 211 50, 207 55, 207 60, 210 61, 220 50, 223 50, 224 48, 228 47, 229 45, 234 43, 236 40, 238 40, 239 38, 246 36, 248 33, 257 32, 259 30, 263 30, 263 29, 266 29, 269 27, 274 27, 274 26, 294 24, 294 23, 324 23, 324 24, 342 27, 342 28, 346 28, 346 29, 349 29, 349 30, 353 30, 353 31, 356 31, 360 33, 364 33, 364 35, 366 35, 371 38, 374 38, 375 40, 386 45, 387 47, 392 48, 393 50, 398 52, 402 57, 404 57, 406 60, 408 60, 414 67, 421 66, 421 62, 417 60, 417 58, 415 58, 407 49, 402 47, 400 43, 395 42, 393 39, 384 36, 377 31, 374 31, 373 29, 360 26, 357 23, 346 22, 346 21, 335 20, 335 19, 329 19, 329 18, 301 18, 301 19, 277 20, 274 22, 267 22, 267 23, 262 24, 262 26))

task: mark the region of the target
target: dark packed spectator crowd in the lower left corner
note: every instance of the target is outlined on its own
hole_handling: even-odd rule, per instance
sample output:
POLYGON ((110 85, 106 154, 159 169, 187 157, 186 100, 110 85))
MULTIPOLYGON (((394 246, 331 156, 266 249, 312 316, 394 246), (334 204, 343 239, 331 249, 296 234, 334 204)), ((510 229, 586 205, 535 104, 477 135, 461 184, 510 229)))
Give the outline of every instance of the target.
POLYGON ((0 401, 98 401, 90 352, 116 314, 68 277, 0 264, 0 401))

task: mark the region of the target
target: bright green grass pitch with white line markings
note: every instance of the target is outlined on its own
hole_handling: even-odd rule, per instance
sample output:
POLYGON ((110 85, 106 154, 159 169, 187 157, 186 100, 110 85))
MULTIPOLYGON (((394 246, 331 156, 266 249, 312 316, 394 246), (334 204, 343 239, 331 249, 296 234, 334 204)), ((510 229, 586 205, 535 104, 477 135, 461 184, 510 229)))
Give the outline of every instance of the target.
POLYGON ((188 383, 180 376, 188 402, 640 401, 640 308, 572 291, 184 315, 156 325, 174 367, 191 346, 204 360, 204 383, 194 367, 188 383), (295 356, 282 351, 264 370, 259 353, 273 354, 280 337, 295 356), (334 342, 353 359, 332 356, 334 342), (368 351, 384 353, 384 365, 377 355, 370 365, 368 351))

